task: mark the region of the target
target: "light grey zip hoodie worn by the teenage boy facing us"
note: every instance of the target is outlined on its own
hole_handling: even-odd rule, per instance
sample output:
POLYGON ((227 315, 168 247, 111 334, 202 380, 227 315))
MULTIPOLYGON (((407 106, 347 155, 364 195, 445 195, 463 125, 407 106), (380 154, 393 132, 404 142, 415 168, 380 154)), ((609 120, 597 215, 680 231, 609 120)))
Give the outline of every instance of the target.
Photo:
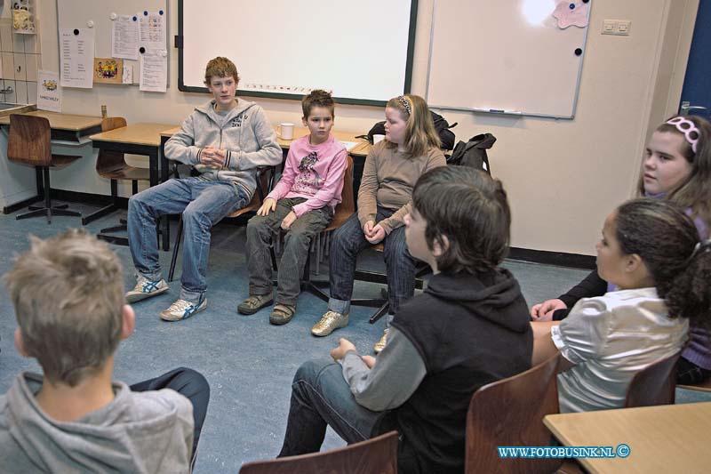
POLYGON ((257 167, 282 163, 282 149, 274 127, 264 109, 255 102, 237 99, 236 108, 221 116, 215 101, 196 107, 165 143, 165 157, 192 165, 209 181, 232 181, 252 197, 257 188, 257 167), (220 170, 200 164, 200 154, 207 146, 227 150, 225 166, 220 170))

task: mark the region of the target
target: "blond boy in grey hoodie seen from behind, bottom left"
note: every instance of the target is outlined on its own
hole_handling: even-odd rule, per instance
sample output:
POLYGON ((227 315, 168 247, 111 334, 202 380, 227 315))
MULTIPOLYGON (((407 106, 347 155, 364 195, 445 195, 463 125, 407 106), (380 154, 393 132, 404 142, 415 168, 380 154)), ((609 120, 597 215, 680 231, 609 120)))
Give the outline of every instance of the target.
POLYGON ((130 388, 112 380, 134 327, 123 274, 108 245, 75 229, 33 237, 5 277, 15 346, 43 374, 19 374, 0 396, 0 472, 190 470, 210 387, 184 368, 130 388))

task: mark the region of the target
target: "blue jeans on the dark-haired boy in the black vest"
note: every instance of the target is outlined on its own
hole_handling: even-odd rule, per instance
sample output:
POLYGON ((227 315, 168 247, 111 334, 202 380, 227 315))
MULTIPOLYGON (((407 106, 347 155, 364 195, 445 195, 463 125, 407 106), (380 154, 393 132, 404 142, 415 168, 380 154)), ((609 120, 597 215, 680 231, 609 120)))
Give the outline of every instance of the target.
POLYGON ((358 405, 340 364, 332 360, 305 362, 294 375, 292 403, 279 457, 318 452, 324 443, 326 426, 331 426, 348 444, 369 439, 384 414, 358 405))

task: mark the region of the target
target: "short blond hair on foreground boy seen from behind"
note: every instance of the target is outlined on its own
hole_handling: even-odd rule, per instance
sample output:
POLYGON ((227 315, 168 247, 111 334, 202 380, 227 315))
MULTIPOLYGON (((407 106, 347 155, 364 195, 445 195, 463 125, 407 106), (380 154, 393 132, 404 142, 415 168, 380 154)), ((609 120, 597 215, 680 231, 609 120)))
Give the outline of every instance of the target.
POLYGON ((20 325, 16 342, 47 380, 74 387, 125 337, 123 269, 108 245, 83 230, 30 240, 5 276, 20 325))

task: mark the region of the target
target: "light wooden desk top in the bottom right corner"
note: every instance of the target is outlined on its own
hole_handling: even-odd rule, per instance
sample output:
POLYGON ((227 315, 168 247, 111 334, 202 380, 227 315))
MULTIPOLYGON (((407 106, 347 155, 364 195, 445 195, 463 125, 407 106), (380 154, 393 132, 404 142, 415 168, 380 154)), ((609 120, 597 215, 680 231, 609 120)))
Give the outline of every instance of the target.
POLYGON ((629 446, 627 458, 580 458, 590 472, 711 470, 711 402, 548 414, 543 422, 565 446, 629 446))

